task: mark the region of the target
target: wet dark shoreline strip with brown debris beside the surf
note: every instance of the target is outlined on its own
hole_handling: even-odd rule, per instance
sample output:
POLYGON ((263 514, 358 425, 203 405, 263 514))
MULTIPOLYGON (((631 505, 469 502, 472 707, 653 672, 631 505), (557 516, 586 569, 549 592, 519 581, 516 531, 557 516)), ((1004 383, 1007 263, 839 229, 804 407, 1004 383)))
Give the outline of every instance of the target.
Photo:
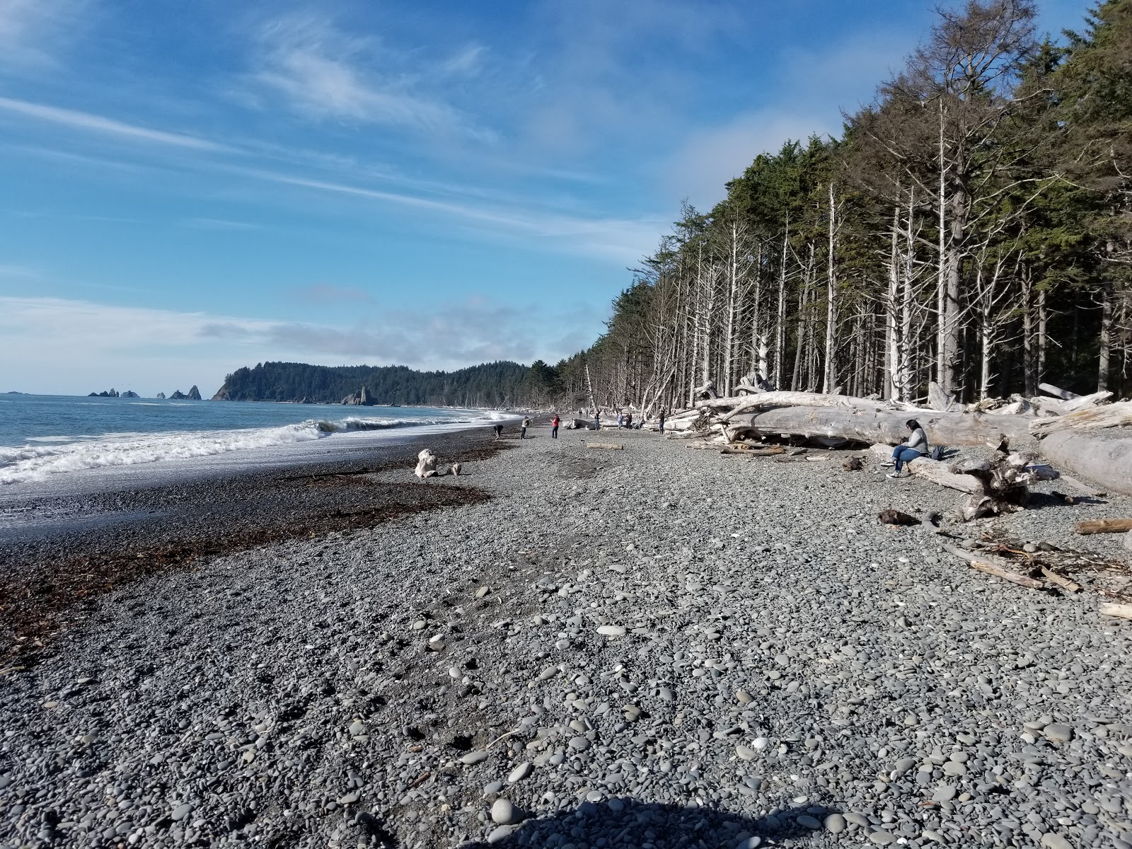
POLYGON ((24 645, 33 653, 43 648, 43 637, 66 625, 68 611, 121 583, 192 568, 201 558, 481 499, 458 479, 435 491, 415 489, 413 478, 366 483, 386 470, 411 471, 417 452, 438 439, 448 463, 489 456, 507 445, 488 444, 491 436, 482 426, 388 434, 380 441, 332 446, 329 456, 308 453, 260 464, 231 457, 237 465, 229 470, 191 462, 172 470, 160 463, 119 466, 61 494, 10 484, 0 490, 0 662, 24 653, 24 645))

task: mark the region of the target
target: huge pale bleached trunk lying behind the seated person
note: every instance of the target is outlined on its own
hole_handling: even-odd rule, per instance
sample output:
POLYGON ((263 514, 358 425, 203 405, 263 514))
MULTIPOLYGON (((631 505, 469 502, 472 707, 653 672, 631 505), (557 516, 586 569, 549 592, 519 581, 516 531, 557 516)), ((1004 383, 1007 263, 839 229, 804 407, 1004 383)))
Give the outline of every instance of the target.
MULTIPOLYGON (((765 393, 770 395, 772 393, 765 393)), ((752 397, 763 397, 754 395, 752 397)), ((895 445, 908 436, 909 413, 850 406, 790 406, 726 417, 734 430, 769 436, 841 437, 860 443, 895 445)), ((943 413, 924 410, 916 419, 933 445, 998 444, 1029 435, 1030 420, 1021 415, 943 413)))

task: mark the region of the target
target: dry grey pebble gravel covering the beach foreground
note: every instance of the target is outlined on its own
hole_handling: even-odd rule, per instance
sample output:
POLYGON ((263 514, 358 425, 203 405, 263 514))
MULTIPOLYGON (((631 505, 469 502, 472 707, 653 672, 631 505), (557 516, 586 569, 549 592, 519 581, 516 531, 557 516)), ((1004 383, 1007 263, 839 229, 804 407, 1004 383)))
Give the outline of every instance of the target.
POLYGON ((959 494, 532 430, 490 500, 95 599, 2 678, 0 846, 1132 844, 1130 624, 876 523, 959 494))

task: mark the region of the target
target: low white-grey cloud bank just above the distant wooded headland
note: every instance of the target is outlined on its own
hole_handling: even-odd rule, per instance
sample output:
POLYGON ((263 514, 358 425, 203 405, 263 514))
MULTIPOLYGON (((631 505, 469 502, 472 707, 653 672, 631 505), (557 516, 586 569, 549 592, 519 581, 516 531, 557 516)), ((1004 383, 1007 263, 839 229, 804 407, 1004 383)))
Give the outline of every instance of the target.
POLYGON ((370 314, 341 326, 0 297, 0 392, 86 394, 113 386, 154 395, 196 384, 212 394, 226 374, 264 360, 419 369, 557 361, 600 329, 600 316, 589 310, 557 315, 478 300, 370 314))

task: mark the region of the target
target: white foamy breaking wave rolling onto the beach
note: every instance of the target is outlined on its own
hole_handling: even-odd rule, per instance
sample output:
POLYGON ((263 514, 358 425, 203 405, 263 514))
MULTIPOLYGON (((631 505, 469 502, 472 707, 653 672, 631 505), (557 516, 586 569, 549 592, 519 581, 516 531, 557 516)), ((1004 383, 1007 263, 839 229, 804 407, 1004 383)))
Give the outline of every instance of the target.
POLYGON ((0 484, 43 480, 50 474, 117 465, 158 463, 226 454, 246 448, 266 448, 325 439, 335 434, 391 430, 428 424, 471 424, 513 418, 484 411, 444 418, 367 418, 337 420, 308 419, 295 424, 239 430, 174 431, 164 434, 113 434, 101 438, 60 444, 52 437, 29 440, 23 447, 0 447, 0 484), (50 440, 50 441, 49 441, 50 440))

